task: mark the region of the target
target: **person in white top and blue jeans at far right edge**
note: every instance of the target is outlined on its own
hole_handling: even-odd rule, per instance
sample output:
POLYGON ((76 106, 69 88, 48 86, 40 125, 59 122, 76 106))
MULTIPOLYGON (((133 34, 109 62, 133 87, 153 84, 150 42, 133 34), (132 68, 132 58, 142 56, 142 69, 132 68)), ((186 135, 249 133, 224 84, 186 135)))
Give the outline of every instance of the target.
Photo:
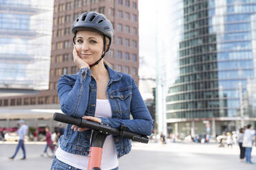
POLYGON ((247 125, 247 129, 244 132, 244 138, 243 138, 243 144, 242 146, 245 147, 245 157, 246 157, 246 162, 249 164, 254 164, 251 161, 251 152, 253 149, 253 139, 255 135, 255 130, 253 130, 252 125, 247 125))

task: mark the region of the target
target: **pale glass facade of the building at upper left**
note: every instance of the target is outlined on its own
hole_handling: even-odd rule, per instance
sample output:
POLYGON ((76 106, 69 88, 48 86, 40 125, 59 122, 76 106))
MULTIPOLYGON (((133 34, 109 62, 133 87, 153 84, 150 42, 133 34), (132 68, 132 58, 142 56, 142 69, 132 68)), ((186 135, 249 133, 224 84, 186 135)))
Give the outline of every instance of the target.
POLYGON ((0 0, 0 88, 48 88, 51 0, 0 0))

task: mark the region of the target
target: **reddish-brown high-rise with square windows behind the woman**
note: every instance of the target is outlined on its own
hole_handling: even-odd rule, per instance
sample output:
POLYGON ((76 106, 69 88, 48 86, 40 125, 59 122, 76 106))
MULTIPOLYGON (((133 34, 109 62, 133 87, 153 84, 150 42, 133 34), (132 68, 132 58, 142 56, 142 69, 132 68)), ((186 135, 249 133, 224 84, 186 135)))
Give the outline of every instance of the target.
POLYGON ((105 14, 114 25, 114 42, 105 60, 116 71, 132 75, 138 83, 138 0, 55 0, 49 89, 39 91, 38 95, 2 97, 0 106, 56 104, 59 107, 58 79, 78 71, 72 58, 72 22, 87 11, 105 14))

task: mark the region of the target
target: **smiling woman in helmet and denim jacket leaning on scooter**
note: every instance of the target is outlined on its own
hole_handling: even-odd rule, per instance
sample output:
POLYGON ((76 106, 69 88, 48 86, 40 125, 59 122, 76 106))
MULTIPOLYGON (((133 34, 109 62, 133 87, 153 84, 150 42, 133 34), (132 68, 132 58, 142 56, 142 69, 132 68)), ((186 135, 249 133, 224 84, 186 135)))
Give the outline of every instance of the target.
MULTIPOLYGON (((85 12, 72 25, 74 62, 80 69, 58 80, 61 110, 73 117, 103 123, 114 128, 150 135, 153 121, 134 79, 118 73, 103 58, 113 41, 113 27, 103 14, 85 12), (130 113, 133 120, 130 120, 130 113)), ((67 125, 52 169, 87 169, 92 130, 67 125)), ((128 154, 131 141, 107 136, 101 169, 118 169, 118 158, 128 154)))

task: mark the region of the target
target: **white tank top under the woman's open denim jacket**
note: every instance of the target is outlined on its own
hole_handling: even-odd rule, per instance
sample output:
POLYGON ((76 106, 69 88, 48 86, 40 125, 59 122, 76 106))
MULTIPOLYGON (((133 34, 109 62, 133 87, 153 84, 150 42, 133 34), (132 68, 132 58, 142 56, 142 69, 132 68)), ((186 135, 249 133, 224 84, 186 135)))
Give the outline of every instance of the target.
MULTIPOLYGON (((111 107, 108 99, 97 99, 95 117, 112 117, 111 107)), ((82 156, 78 154, 70 154, 63 151, 61 147, 56 150, 56 158, 65 162, 72 167, 87 170, 89 156, 82 156)), ((101 159, 102 170, 109 170, 118 167, 118 158, 116 156, 116 146, 112 135, 107 136, 103 145, 103 156, 101 159)))

